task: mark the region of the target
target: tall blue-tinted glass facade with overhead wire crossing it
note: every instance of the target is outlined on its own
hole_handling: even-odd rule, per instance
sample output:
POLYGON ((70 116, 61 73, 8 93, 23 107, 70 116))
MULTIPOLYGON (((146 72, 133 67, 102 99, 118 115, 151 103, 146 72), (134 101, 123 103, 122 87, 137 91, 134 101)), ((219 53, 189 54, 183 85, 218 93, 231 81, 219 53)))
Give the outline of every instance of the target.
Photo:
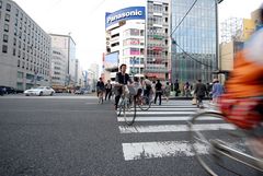
MULTIPOLYGON (((172 0, 172 31, 194 0, 172 0)), ((172 82, 210 82, 217 70, 216 1, 198 0, 172 34, 172 82)))

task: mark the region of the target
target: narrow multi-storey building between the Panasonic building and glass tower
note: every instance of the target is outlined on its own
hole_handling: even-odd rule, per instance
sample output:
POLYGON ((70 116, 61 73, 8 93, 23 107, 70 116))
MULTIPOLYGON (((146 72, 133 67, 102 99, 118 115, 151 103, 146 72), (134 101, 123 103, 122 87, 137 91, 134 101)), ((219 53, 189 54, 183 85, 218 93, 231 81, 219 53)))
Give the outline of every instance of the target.
POLYGON ((171 0, 147 0, 145 74, 171 80, 171 0))

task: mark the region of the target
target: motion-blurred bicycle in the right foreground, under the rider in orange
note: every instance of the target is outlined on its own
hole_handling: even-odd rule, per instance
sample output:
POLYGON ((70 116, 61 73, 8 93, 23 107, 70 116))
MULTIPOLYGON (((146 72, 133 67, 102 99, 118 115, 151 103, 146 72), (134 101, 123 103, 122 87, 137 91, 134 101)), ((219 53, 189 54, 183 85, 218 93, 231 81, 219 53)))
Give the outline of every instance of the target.
POLYGON ((224 140, 216 139, 213 138, 213 131, 207 132, 202 130, 204 121, 202 122, 201 119, 224 120, 225 122, 227 122, 227 120, 220 112, 208 109, 197 113, 188 121, 192 149, 198 163, 208 174, 218 175, 216 171, 219 171, 220 168, 238 174, 233 168, 229 168, 230 164, 227 163, 229 161, 236 161, 237 164, 241 163, 258 172, 263 172, 263 160, 254 156, 252 153, 251 148, 247 142, 250 138, 247 131, 239 129, 231 124, 225 126, 220 122, 216 126, 210 126, 210 130, 213 130, 213 128, 214 130, 215 128, 220 129, 224 126, 225 129, 227 129, 217 131, 217 137, 222 137, 224 140), (227 140, 226 137, 228 137, 227 140))

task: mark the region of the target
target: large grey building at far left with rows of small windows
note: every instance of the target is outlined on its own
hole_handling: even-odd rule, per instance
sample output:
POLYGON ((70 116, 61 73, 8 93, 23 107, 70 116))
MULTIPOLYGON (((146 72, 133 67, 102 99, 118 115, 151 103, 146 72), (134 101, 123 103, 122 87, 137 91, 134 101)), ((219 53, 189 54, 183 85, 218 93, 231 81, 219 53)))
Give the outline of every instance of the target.
POLYGON ((15 2, 0 0, 0 85, 50 83, 50 37, 15 2))

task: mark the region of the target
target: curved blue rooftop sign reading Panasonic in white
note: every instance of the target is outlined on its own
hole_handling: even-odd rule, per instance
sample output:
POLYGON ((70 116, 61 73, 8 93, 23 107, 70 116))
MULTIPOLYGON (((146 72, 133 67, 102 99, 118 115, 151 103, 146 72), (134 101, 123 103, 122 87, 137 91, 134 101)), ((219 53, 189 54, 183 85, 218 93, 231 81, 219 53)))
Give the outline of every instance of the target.
POLYGON ((145 7, 132 7, 118 10, 113 13, 106 13, 105 15, 105 27, 111 26, 119 21, 127 20, 145 20, 145 7))

